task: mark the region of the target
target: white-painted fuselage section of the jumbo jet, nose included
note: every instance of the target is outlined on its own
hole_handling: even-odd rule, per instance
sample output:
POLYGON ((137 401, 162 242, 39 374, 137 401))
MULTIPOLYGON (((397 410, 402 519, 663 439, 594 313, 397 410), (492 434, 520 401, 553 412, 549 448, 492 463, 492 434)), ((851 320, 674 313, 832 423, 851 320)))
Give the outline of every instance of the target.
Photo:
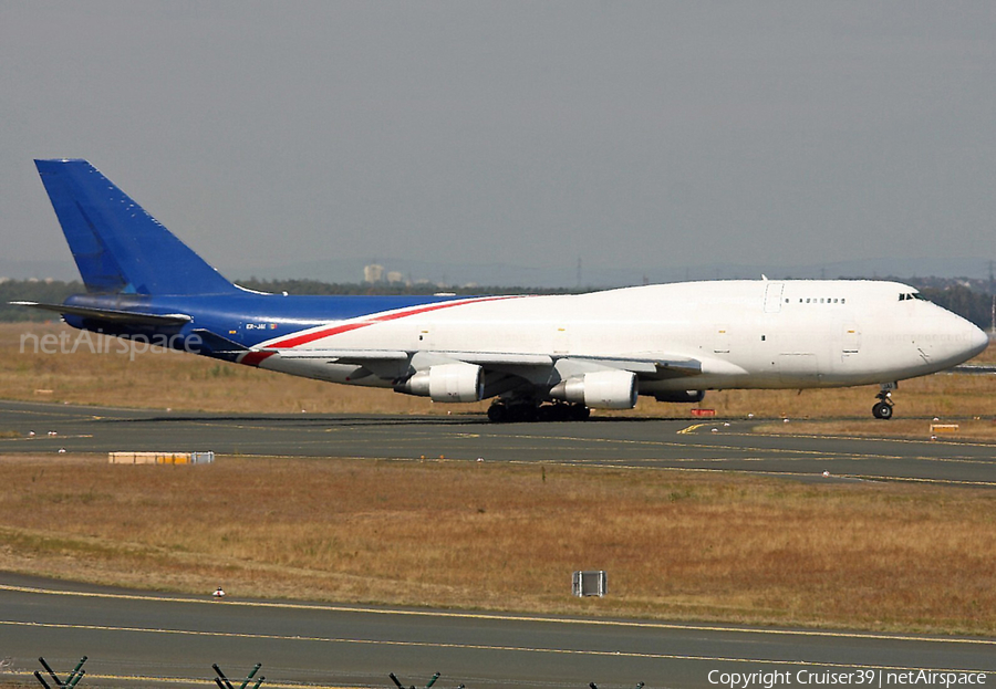
MULTIPOLYGON (((698 375, 641 380, 644 395, 889 383, 950 368, 985 348, 983 331, 914 299, 915 292, 879 281, 715 281, 468 301, 335 332, 300 348, 701 363, 698 375)), ((364 320, 370 319, 357 319, 364 320)), ((393 385, 383 375, 353 379, 357 367, 350 364, 273 356, 261 366, 336 383, 393 385)))

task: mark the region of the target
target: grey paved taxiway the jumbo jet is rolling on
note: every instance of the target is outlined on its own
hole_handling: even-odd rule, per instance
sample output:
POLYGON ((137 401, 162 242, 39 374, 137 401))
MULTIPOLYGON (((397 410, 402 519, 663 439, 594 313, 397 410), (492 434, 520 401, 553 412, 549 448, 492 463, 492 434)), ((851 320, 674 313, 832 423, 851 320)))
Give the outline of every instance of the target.
MULTIPOLYGON (((754 421, 592 419, 489 424, 481 416, 229 415, 0 403, 0 452, 214 450, 219 455, 561 462, 745 471, 801 480, 996 487, 996 445, 770 436, 754 421), (29 436, 34 432, 34 436, 29 436), (50 432, 56 435, 50 436, 50 432)), ((926 421, 925 421, 926 425, 926 421)))

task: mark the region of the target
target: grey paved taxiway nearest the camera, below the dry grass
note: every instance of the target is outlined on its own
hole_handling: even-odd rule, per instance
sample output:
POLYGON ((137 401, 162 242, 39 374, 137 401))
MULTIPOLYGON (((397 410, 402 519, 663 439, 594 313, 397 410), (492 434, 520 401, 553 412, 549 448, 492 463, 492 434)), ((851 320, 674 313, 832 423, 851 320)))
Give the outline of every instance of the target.
POLYGON ((890 672, 996 672, 993 639, 216 603, 13 575, 0 575, 0 610, 11 670, 27 677, 44 656, 64 676, 85 655, 90 686, 205 686, 215 662, 231 678, 261 662, 264 687, 388 687, 392 671, 419 687, 439 671, 437 687, 470 689, 708 687, 723 674, 774 671, 788 683, 862 674, 884 687, 899 686, 890 672))

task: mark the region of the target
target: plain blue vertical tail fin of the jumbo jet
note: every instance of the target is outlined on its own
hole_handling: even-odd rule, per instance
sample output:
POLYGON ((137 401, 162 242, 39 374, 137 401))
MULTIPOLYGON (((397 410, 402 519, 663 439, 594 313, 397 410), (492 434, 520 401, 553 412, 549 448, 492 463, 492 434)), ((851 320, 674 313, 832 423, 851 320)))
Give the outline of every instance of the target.
POLYGON ((87 292, 237 292, 86 160, 35 160, 87 292))

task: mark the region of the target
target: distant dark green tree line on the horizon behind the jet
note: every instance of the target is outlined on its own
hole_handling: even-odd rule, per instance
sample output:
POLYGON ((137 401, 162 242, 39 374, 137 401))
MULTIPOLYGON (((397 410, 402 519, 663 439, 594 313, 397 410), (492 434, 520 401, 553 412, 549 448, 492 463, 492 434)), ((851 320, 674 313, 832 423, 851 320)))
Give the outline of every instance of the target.
MULTIPOLYGON (((898 280, 917 288, 928 300, 972 321, 979 327, 988 330, 993 326, 993 299, 988 290, 972 289, 974 283, 940 278, 898 280), (972 286, 968 286, 968 285, 972 286)), ((280 294, 383 294, 383 295, 426 295, 437 294, 436 285, 404 285, 362 282, 321 282, 318 280, 249 280, 238 284, 259 292, 280 294)), ((981 283, 979 286, 986 286, 981 283)), ((0 283, 0 322, 51 321, 51 312, 12 306, 12 301, 32 301, 58 304, 70 294, 79 294, 85 289, 80 281, 63 282, 61 280, 8 280, 0 283)), ((459 295, 471 294, 571 294, 578 290, 544 290, 528 288, 453 288, 447 293, 459 295)))

